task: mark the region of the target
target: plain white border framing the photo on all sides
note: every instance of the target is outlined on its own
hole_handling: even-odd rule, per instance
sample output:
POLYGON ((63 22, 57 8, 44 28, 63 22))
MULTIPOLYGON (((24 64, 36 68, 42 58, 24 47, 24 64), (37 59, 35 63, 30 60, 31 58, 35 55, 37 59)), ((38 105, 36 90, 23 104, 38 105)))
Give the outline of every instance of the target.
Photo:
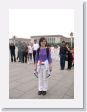
MULTIPOLYGON (((4 4, 5 2, 5 4, 4 4)), ((82 0, 8 0, 1 11, 0 106, 2 108, 83 108, 83 2, 82 0), (75 69, 74 99, 9 99, 9 9, 74 9, 75 69), (4 45, 3 45, 4 43, 4 45), (3 46, 3 48, 2 48, 3 46), (3 52, 5 51, 5 52, 3 52)))

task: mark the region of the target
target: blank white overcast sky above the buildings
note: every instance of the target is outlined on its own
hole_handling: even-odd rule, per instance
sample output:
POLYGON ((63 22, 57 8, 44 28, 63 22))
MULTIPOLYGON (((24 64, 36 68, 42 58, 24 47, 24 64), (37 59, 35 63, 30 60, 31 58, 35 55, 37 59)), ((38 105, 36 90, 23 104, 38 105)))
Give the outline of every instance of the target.
POLYGON ((10 9, 9 38, 64 35, 74 32, 73 9, 10 9))

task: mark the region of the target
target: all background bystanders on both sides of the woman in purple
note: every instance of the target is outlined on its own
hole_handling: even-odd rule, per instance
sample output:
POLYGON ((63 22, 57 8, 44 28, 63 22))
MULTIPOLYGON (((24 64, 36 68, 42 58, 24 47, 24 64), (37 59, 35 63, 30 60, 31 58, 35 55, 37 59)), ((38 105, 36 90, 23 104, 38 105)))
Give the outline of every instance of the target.
MULTIPOLYGON (((50 49, 52 59, 57 59, 60 61, 60 68, 64 70, 65 62, 68 62, 67 69, 71 69, 74 66, 74 48, 70 48, 69 44, 65 41, 62 41, 61 45, 58 48, 55 48, 53 45, 47 47, 50 49), (57 53, 55 53, 55 49, 57 53), (58 55, 58 56, 55 56, 58 55)), ((12 42, 9 44, 11 62, 21 62, 21 63, 34 63, 37 49, 39 48, 39 43, 37 40, 34 40, 33 43, 18 42, 16 45, 12 42)))

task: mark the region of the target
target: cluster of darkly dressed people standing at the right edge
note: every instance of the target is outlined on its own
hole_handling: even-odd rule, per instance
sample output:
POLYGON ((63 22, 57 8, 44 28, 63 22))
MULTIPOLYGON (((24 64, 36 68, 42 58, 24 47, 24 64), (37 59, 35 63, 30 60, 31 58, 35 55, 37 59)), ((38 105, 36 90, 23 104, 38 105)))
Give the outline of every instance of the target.
POLYGON ((59 56, 61 70, 64 70, 66 61, 68 61, 67 69, 71 70, 71 67, 74 66, 74 48, 70 48, 68 43, 62 41, 59 50, 59 56))

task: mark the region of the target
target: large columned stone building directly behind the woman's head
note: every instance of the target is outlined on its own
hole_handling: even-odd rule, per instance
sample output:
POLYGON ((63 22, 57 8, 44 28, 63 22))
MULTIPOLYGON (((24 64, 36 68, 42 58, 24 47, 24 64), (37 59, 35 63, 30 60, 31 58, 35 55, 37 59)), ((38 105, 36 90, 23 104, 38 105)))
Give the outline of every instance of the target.
MULTIPOLYGON (((47 39, 48 43, 61 43, 62 41, 65 41, 67 43, 71 42, 71 38, 64 37, 63 35, 40 35, 40 36, 31 36, 31 41, 34 40, 39 41, 41 37, 45 37, 47 39)), ((72 43, 74 43, 74 38, 72 38, 72 43)))

